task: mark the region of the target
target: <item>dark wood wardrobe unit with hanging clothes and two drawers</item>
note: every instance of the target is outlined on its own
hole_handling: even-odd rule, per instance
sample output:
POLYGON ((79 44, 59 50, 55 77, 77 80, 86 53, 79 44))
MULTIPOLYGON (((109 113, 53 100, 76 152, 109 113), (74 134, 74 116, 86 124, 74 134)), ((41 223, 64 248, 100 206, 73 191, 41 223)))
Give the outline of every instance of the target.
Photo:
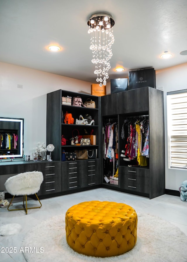
POLYGON ((102 96, 101 117, 102 125, 106 119, 117 119, 119 155, 119 185, 106 184, 105 180, 103 185, 150 199, 165 194, 163 92, 152 87, 143 87, 102 96), (120 156, 124 146, 121 131, 124 119, 144 116, 149 121, 149 158, 147 166, 136 166, 134 163, 124 161, 120 156))

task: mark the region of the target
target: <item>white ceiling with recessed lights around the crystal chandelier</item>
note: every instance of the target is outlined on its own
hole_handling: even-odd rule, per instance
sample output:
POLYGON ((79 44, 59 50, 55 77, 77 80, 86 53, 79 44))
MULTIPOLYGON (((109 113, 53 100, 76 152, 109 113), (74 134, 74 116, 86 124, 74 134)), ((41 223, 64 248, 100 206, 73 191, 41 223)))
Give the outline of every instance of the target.
POLYGON ((115 20, 107 82, 187 62, 187 0, 0 0, 0 61, 96 83, 87 20, 101 11, 115 20))

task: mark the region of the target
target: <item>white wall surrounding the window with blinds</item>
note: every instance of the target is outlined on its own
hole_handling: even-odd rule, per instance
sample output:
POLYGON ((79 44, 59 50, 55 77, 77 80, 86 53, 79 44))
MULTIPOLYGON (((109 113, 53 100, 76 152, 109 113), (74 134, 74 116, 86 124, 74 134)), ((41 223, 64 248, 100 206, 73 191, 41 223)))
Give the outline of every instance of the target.
POLYGON ((168 167, 167 92, 187 89, 186 74, 187 63, 156 71, 156 86, 163 87, 164 92, 166 188, 173 190, 179 190, 181 182, 187 180, 187 170, 168 167))

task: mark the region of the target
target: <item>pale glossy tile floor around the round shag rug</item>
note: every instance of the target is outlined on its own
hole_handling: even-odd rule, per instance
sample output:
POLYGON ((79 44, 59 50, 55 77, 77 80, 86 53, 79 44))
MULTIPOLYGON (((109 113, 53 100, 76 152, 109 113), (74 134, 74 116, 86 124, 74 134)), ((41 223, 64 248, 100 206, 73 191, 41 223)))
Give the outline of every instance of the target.
MULTIPOLYGON (((187 235, 187 202, 181 201, 180 197, 163 195, 154 199, 148 199, 110 189, 98 188, 60 197, 42 199, 42 207, 40 209, 28 210, 27 215, 23 210, 9 212, 7 208, 0 208, 0 225, 7 223, 18 223, 22 225, 20 233, 7 237, 0 236, 0 247, 16 247, 17 249, 16 253, 0 253, 0 261, 26 261, 22 252, 19 253, 18 251, 22 247, 22 239, 28 230, 52 216, 62 213, 65 214, 67 209, 75 204, 91 200, 115 201, 128 204, 132 206, 136 212, 149 213, 170 221, 187 235)), ((29 200, 29 204, 37 205, 37 202, 38 201, 33 199, 29 200)), ((17 197, 13 204, 14 206, 22 204, 22 198, 17 197)))

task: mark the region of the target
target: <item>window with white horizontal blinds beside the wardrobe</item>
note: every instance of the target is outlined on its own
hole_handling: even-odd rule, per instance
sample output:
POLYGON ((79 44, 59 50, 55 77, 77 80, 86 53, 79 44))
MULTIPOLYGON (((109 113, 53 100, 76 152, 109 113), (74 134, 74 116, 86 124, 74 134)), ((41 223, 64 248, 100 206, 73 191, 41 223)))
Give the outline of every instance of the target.
POLYGON ((187 169, 187 89, 167 93, 170 168, 187 169))

